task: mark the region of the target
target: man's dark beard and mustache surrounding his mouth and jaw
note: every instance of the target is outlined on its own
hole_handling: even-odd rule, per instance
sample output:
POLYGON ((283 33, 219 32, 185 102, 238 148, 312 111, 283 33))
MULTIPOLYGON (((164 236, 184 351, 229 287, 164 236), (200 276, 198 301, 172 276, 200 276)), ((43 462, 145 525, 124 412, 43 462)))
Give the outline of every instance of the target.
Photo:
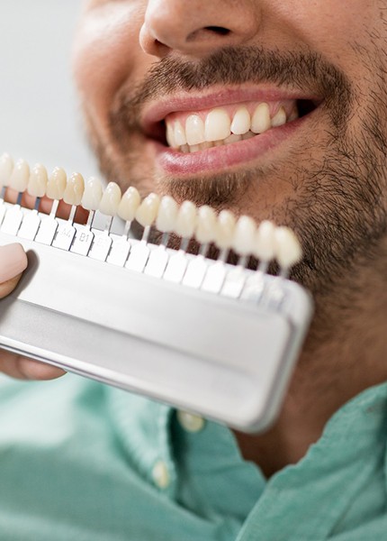
MULTIPOLYGON (((302 240, 304 259, 293 270, 293 278, 314 293, 327 292, 332 283, 353 270, 359 254, 370 253, 386 233, 385 130, 380 111, 387 99, 381 84, 372 110, 364 112, 363 122, 350 133, 350 116, 356 101, 361 100, 347 78, 318 55, 279 53, 257 48, 220 50, 200 62, 161 60, 151 69, 146 80, 129 92, 122 87, 111 115, 112 141, 120 150, 121 163, 110 156, 97 139, 94 147, 103 172, 122 187, 130 183, 148 185, 147 175, 136 170, 136 149, 130 146, 130 133, 139 132, 139 113, 149 99, 167 96, 180 89, 197 90, 214 85, 238 85, 245 82, 269 82, 286 87, 299 87, 302 92, 323 96, 324 112, 330 130, 325 133, 326 145, 319 160, 308 156, 320 154, 313 142, 305 142, 302 158, 294 153, 294 164, 288 181, 293 197, 281 208, 267 207, 257 219, 273 219, 294 229, 302 240), (132 172, 135 171, 134 176, 132 172), (278 217, 277 217, 278 216, 278 217), (281 216, 281 217, 279 217, 281 216)), ((92 120, 91 120, 92 124, 92 120)), ((92 137, 93 139, 93 137, 92 137)), ((289 158, 287 162, 291 163, 289 158)), ((197 205, 216 208, 232 206, 243 213, 244 195, 265 182, 270 170, 245 170, 203 178, 157 179, 151 183, 160 193, 168 193, 181 201, 190 199, 197 205)))

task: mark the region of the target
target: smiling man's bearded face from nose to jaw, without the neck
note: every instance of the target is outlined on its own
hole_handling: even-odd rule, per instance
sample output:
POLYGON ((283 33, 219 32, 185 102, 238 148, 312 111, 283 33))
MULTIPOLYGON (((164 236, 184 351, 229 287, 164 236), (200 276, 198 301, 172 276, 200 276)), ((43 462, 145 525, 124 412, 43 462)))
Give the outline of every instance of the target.
POLYGON ((292 226, 318 289, 385 234, 386 39, 385 0, 89 0, 76 81, 108 179, 292 226))

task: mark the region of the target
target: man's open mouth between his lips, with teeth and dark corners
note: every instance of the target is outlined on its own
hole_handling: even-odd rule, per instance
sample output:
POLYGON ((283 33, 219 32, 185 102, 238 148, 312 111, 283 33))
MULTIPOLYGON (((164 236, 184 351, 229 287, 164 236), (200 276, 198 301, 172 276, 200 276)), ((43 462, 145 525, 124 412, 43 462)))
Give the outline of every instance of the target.
POLYGON ((310 115, 321 100, 247 102, 201 111, 169 113, 153 126, 152 138, 173 151, 193 153, 246 141, 310 115))

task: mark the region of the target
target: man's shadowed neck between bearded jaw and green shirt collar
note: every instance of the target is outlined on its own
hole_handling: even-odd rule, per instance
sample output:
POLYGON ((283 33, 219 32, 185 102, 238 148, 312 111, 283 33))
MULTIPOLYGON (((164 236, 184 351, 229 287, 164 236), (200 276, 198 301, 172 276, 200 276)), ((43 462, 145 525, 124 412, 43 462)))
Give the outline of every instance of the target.
POLYGON ((264 435, 236 433, 243 456, 266 477, 301 460, 347 400, 387 381, 383 252, 315 297, 316 315, 275 425, 264 435))

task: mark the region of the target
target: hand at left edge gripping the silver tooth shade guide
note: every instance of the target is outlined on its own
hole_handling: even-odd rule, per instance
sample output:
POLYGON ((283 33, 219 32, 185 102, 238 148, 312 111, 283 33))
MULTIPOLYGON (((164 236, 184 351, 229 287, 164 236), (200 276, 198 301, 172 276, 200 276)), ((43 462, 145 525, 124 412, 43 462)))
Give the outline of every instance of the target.
MULTIPOLYGON (((4 298, 14 290, 27 263, 27 256, 21 244, 0 246, 0 298, 4 298)), ((0 371, 21 380, 52 380, 65 373, 55 366, 4 350, 0 350, 0 371)))

